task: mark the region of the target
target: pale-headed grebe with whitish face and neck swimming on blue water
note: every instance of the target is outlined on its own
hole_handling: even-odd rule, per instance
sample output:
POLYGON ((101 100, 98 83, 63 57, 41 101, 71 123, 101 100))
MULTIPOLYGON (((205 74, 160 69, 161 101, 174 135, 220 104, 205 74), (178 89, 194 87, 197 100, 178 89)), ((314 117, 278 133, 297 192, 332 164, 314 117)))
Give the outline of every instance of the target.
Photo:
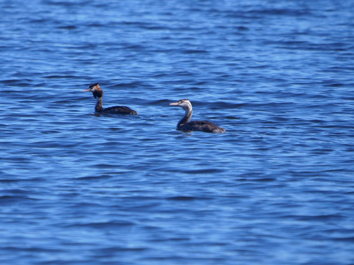
POLYGON ((206 120, 194 120, 189 122, 192 118, 192 104, 189 99, 180 99, 170 105, 179 106, 183 108, 185 114, 181 120, 177 123, 177 130, 179 131, 204 131, 205 133, 225 133, 225 129, 217 126, 212 122, 206 120))

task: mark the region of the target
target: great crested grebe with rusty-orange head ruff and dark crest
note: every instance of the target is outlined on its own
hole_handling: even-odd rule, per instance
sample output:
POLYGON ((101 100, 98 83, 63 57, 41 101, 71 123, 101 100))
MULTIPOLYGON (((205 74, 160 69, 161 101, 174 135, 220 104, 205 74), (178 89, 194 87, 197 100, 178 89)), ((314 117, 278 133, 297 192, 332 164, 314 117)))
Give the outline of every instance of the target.
POLYGON ((126 106, 114 106, 108 108, 102 107, 103 90, 98 86, 98 83, 92 84, 89 88, 82 90, 82 92, 86 92, 86 91, 91 91, 93 97, 97 100, 95 106, 96 113, 138 114, 138 112, 126 106))

